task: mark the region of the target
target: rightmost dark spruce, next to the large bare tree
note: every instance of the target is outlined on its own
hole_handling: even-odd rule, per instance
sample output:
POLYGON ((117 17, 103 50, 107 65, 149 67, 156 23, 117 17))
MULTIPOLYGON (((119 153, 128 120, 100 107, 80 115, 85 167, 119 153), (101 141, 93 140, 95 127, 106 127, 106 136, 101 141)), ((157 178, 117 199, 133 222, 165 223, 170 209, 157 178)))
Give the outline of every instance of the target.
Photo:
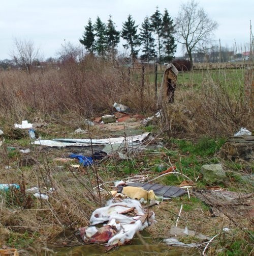
POLYGON ((174 24, 173 19, 169 16, 169 12, 167 9, 164 11, 163 16, 163 51, 164 51, 164 61, 170 62, 174 58, 174 54, 176 52, 176 44, 175 38, 173 36, 174 33, 174 24))

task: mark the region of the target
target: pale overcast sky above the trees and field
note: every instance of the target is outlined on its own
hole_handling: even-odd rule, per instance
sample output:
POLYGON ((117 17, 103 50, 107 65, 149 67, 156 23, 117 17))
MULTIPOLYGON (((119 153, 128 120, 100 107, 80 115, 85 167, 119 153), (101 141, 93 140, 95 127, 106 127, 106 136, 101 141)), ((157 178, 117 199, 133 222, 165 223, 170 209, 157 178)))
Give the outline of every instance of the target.
MULTIPOLYGON (((167 8, 175 19, 181 3, 186 0, 0 0, 0 60, 11 58, 13 38, 33 40, 45 58, 55 57, 65 41, 78 44, 88 18, 94 22, 99 16, 104 22, 112 15, 117 29, 129 14, 137 24, 145 16, 151 16, 156 6, 163 13, 167 8), (65 41, 64 41, 65 40, 65 41)), ((214 39, 218 44, 232 49, 234 40, 244 48, 250 41, 250 23, 254 26, 253 0, 200 0, 209 17, 217 21, 219 28, 214 39)), ((252 29, 253 31, 253 29, 252 29)), ((120 47, 121 49, 121 47, 120 47)), ((238 50, 239 52, 239 50, 238 50)), ((181 55, 178 46, 176 56, 181 55)))

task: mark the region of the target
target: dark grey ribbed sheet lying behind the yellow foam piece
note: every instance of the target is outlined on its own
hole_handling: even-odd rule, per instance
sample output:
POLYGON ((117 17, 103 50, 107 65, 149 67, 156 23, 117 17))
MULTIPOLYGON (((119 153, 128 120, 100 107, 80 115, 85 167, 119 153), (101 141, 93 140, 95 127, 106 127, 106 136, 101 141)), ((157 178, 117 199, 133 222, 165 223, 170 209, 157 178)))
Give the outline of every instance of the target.
MULTIPOLYGON (((170 187, 164 186, 157 183, 149 184, 149 183, 127 183, 125 186, 132 186, 132 187, 141 187, 147 191, 152 190, 156 196, 163 196, 166 198, 170 197, 177 197, 187 193, 184 189, 179 187, 170 187)), ((123 186, 117 186, 117 192, 122 191, 123 186)))

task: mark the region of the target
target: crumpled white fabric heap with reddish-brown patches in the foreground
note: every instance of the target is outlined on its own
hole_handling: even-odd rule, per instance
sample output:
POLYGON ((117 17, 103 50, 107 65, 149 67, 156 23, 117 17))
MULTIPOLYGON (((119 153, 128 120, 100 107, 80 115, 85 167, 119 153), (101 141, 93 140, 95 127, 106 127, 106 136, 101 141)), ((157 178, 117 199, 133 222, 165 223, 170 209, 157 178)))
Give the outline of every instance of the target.
POLYGON ((137 200, 111 199, 92 213, 89 221, 92 226, 81 227, 80 235, 85 243, 107 243, 110 247, 129 244, 135 233, 151 225, 154 219, 154 213, 144 210, 137 200), (105 222, 101 228, 94 226, 105 222))

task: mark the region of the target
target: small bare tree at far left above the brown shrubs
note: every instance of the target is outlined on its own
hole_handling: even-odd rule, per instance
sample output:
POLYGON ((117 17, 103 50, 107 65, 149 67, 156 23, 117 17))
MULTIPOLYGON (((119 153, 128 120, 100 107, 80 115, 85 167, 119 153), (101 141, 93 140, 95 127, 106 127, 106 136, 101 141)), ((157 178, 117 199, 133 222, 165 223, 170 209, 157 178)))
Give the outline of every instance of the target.
POLYGON ((11 53, 15 63, 25 72, 31 73, 40 60, 40 49, 31 40, 14 38, 14 48, 11 53))

